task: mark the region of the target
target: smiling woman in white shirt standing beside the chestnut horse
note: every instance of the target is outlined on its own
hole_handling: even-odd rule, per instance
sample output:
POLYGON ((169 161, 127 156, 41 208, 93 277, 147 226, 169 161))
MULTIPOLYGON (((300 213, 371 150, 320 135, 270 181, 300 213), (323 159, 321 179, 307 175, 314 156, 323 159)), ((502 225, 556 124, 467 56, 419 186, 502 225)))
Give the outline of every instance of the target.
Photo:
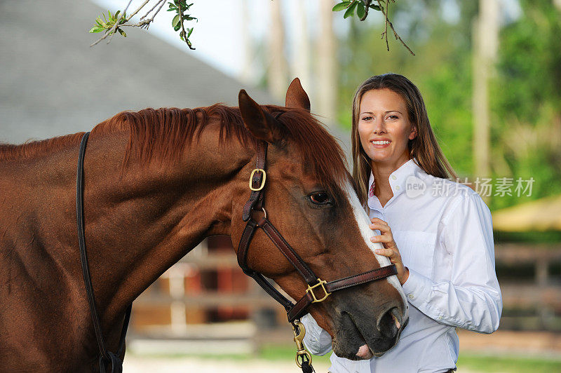
MULTIPOLYGON (((491 333, 499 327, 501 291, 494 271, 489 208, 452 182, 421 93, 398 74, 373 76, 353 100, 353 178, 370 215, 374 250, 396 264, 410 322, 385 354, 361 346, 352 358, 331 355, 330 372, 451 372, 456 327, 491 333)), ((312 353, 331 350, 316 321, 303 320, 312 353)))

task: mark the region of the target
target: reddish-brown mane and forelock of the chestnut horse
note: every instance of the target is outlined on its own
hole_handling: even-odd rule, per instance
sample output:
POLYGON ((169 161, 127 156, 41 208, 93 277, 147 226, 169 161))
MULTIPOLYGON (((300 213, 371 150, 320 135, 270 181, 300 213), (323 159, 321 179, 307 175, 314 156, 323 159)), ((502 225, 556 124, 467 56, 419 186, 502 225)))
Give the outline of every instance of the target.
MULTIPOLYGON (((321 185, 337 191, 350 180, 344 153, 327 130, 309 112, 265 105, 269 113, 278 116, 283 140, 292 144, 302 161, 321 185)), ((132 159, 142 164, 158 161, 170 164, 201 136, 211 118, 220 123, 219 143, 236 137, 245 147, 256 149, 257 140, 245 128, 238 107, 214 104, 196 109, 142 109, 121 113, 97 124, 92 135, 128 131, 129 141, 123 165, 132 159)), ((48 140, 27 142, 21 145, 0 144, 0 161, 43 156, 50 151, 79 144, 83 133, 53 137, 48 140)))

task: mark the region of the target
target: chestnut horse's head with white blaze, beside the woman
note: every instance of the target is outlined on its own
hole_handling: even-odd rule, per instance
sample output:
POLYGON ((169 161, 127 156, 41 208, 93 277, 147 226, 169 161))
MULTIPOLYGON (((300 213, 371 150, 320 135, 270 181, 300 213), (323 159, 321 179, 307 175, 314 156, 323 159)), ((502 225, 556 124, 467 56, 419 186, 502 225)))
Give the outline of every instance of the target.
MULTIPOLYGON (((386 257, 374 254, 379 244, 370 241, 374 234, 368 226, 370 219, 358 200, 342 149, 311 115, 299 80, 290 85, 285 108, 262 107, 245 90, 240 92, 239 107, 245 127, 268 144, 264 205, 252 215, 266 214, 322 280, 388 266, 386 257)), ((243 208, 250 194, 245 188, 246 193, 233 201, 234 243, 241 240, 245 226, 243 208)), ((247 265, 294 299, 306 293, 308 284, 301 273, 263 231, 256 231, 248 247, 247 265)), ((332 336, 334 353, 353 360, 388 351, 407 322, 407 301, 396 276, 333 292, 308 311, 332 336), (365 345, 368 353, 364 353, 365 345)))

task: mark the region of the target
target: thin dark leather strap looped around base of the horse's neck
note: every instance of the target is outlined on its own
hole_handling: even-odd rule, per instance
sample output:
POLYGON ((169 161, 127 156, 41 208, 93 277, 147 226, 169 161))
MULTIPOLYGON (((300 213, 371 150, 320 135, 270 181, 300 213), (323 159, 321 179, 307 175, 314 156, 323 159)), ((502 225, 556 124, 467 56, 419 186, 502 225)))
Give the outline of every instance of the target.
POLYGON ((130 320, 130 311, 133 307, 131 303, 125 312, 125 320, 121 329, 121 337, 119 338, 119 350, 112 353, 107 350, 100 325, 100 317, 97 315, 97 306, 95 305, 95 295, 93 293, 92 278, 88 265, 88 253, 86 251, 86 235, 83 228, 83 158, 86 154, 86 144, 88 144, 89 132, 83 134, 80 143, 80 153, 78 157, 78 172, 76 175, 76 220, 78 224, 78 243, 80 246, 80 261, 82 264, 83 283, 86 285, 86 293, 88 294, 88 304, 90 305, 90 316, 92 317, 93 330, 97 339, 97 347, 100 349, 100 372, 107 371, 108 364, 111 363, 111 373, 123 372, 123 361, 120 356, 125 352, 125 337, 127 334, 128 322, 130 320))

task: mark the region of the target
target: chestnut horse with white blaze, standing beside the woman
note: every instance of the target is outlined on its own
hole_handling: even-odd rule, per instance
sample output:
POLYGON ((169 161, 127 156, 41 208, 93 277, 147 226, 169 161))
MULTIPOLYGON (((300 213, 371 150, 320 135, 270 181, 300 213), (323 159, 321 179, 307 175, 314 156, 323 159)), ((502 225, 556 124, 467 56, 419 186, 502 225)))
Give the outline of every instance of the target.
MULTIPOLYGON (((374 255, 369 219, 342 150, 309 112, 295 79, 287 107, 125 111, 91 131, 84 162, 90 271, 108 349, 123 315, 151 283, 205 237, 239 242, 258 140, 269 143, 266 211, 325 280, 389 264, 374 255), (269 114, 283 113, 278 119, 269 114), (264 120, 264 118, 269 118, 264 120)), ((0 145, 0 370, 91 372, 96 339, 76 233, 76 162, 82 133, 0 145)), ((248 266, 299 299, 306 283, 262 231, 248 266)), ((397 342, 407 301, 396 276, 351 287, 309 308, 333 350, 358 359, 397 342), (391 317, 390 317, 391 316, 391 317)))

